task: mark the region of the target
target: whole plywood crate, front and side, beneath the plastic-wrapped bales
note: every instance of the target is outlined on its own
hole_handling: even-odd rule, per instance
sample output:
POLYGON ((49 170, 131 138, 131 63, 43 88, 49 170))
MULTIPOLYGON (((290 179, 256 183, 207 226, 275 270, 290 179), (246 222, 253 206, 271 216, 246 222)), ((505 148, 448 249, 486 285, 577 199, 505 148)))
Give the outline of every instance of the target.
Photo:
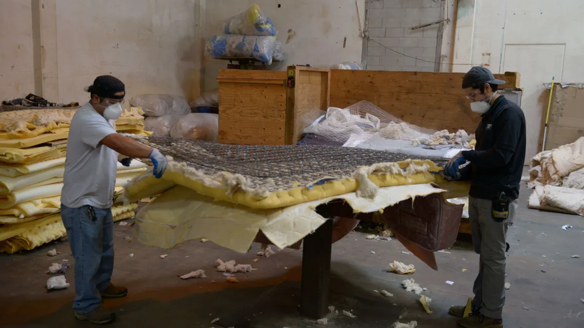
POLYGON ((330 80, 330 69, 301 66, 287 71, 219 71, 219 142, 296 144, 305 128, 303 114, 328 109, 330 80))

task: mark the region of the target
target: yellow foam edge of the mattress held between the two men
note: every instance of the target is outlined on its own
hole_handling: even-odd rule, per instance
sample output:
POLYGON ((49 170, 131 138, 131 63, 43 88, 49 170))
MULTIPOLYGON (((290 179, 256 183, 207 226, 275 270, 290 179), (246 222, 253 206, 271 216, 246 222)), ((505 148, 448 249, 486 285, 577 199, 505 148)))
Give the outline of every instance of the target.
MULTIPOLYGON (((437 172, 439 168, 430 160, 412 160, 411 162, 403 161, 397 162, 400 168, 406 168, 410 163, 422 166, 429 165, 430 172, 437 172)), ((392 174, 373 174, 369 176, 371 182, 379 187, 402 186, 406 184, 421 184, 434 182, 434 175, 430 172, 420 172, 408 176, 392 175, 392 174)), ((437 176, 437 175, 436 175, 437 176)), ((189 189, 196 191, 199 194, 213 197, 215 200, 229 201, 235 204, 245 205, 251 208, 279 208, 287 207, 307 201, 318 200, 330 196, 352 193, 357 190, 359 183, 354 178, 347 178, 343 180, 332 180, 318 186, 296 187, 289 190, 277 190, 270 193, 267 197, 258 199, 258 197, 247 193, 246 191, 238 190, 228 195, 228 189, 222 187, 212 187, 206 184, 191 179, 179 172, 173 172, 167 167, 161 179, 156 179, 152 176, 151 171, 144 173, 143 177, 134 180, 129 186, 126 186, 126 197, 129 200, 138 201, 144 197, 154 196, 161 193, 164 187, 169 187, 168 182, 180 184, 189 189), (160 184, 165 184, 160 186, 160 184)))

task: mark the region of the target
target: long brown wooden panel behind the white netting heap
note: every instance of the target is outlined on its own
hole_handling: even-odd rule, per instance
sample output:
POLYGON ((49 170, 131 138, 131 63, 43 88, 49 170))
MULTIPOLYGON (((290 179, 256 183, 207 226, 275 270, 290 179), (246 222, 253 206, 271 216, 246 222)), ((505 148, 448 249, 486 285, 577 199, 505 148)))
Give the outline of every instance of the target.
MULTIPOLYGON (((515 73, 507 73, 515 76, 515 73)), ((474 132, 481 121, 472 113, 461 83, 464 73, 331 70, 331 106, 367 100, 420 127, 474 132)), ((495 78, 510 81, 509 76, 495 78)), ((513 79, 516 87, 519 79, 513 79)), ((502 88, 506 88, 503 85, 502 88)))

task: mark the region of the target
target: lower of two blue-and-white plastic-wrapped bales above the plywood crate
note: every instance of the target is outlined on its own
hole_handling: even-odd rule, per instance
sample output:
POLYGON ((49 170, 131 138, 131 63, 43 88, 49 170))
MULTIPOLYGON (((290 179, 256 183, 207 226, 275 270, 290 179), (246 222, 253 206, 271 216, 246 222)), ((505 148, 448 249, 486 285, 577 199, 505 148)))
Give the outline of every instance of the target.
POLYGON ((212 57, 252 57, 272 64, 275 36, 218 35, 207 40, 206 51, 212 57))

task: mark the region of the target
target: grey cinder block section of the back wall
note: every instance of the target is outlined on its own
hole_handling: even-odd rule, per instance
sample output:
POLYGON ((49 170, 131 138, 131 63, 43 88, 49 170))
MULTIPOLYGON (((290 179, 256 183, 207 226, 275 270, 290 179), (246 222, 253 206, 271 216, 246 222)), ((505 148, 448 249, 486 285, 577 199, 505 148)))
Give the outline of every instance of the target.
POLYGON ((440 0, 369 0, 369 37, 391 48, 367 42, 367 69, 374 71, 433 72, 438 25, 412 27, 440 21, 440 0), (421 60, 431 61, 425 62, 421 60))

